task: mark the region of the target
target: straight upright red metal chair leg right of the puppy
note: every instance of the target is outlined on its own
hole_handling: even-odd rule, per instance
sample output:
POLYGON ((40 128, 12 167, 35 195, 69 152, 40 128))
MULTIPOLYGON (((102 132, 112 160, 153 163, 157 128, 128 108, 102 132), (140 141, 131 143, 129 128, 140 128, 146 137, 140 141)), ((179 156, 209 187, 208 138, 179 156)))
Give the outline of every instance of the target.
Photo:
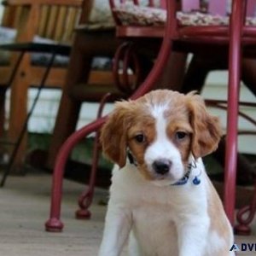
POLYGON ((224 208, 230 223, 234 225, 236 201, 236 159, 238 101, 241 73, 241 24, 243 22, 241 0, 233 1, 230 17, 229 87, 227 113, 227 140, 224 173, 224 208))

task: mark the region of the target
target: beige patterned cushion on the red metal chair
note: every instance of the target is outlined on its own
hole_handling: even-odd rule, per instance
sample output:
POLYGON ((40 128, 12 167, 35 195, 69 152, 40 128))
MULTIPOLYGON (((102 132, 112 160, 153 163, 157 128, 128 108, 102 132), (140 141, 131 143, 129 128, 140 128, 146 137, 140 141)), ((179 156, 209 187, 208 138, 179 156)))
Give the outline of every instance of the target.
MULTIPOLYGON (((134 4, 121 4, 113 10, 124 26, 163 26, 166 23, 166 10, 141 7, 134 4)), ((181 26, 216 26, 228 25, 228 16, 208 15, 200 12, 177 12, 177 20, 181 26)), ((256 18, 247 17, 247 25, 255 26, 256 18)))

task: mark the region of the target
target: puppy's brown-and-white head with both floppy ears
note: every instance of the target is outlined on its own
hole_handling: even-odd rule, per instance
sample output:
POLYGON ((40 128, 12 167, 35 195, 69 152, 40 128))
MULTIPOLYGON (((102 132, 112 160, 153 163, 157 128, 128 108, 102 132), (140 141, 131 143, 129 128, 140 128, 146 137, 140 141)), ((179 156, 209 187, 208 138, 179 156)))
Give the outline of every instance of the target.
POLYGON ((127 151, 148 180, 175 183, 187 172, 191 155, 210 154, 222 131, 201 96, 154 90, 136 101, 117 102, 102 127, 102 148, 119 167, 127 151))

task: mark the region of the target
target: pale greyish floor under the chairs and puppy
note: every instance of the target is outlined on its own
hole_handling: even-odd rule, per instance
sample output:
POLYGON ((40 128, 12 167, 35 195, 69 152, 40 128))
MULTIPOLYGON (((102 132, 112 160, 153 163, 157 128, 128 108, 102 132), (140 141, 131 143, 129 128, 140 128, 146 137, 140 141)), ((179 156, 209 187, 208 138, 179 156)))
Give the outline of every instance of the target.
MULTIPOLYGON (((96 189, 92 218, 77 220, 76 201, 84 186, 65 180, 62 204, 65 229, 49 233, 44 231, 44 222, 49 216, 50 184, 48 174, 32 172, 26 177, 9 177, 6 186, 0 189, 0 256, 96 256, 106 212, 106 207, 98 202, 106 200, 108 192, 96 189)), ((256 243, 256 236, 240 236, 236 241, 256 243)))

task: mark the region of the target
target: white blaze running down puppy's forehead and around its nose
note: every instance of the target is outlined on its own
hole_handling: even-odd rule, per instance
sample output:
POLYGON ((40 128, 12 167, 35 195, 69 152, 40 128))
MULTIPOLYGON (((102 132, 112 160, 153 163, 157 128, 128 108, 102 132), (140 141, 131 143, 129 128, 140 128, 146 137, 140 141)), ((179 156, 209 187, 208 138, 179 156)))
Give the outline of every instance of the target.
POLYGON ((146 149, 144 158, 148 166, 148 170, 152 172, 153 163, 155 160, 168 159, 172 161, 172 167, 166 179, 175 182, 183 177, 183 162, 181 160, 181 154, 177 147, 170 141, 166 135, 167 121, 164 118, 164 112, 167 106, 157 106, 152 108, 151 113, 155 119, 155 134, 154 142, 146 149))

